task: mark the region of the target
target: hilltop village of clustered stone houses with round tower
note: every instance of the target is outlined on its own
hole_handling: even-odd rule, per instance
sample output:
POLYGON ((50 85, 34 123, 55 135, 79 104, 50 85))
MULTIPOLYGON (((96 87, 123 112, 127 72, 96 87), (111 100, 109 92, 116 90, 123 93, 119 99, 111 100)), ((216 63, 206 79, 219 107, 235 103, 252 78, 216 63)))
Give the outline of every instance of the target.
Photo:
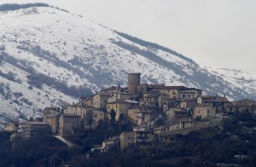
MULTIPOLYGON (((216 113, 255 112, 256 102, 230 102, 225 96, 203 95, 201 89, 165 84, 141 83, 140 73, 128 74, 127 88, 113 86, 96 95, 81 97, 77 104, 65 108, 46 107, 44 118, 25 124, 9 123, 5 130, 13 131, 11 141, 30 138, 39 131, 50 130, 54 135, 73 135, 77 130, 95 129, 101 120, 131 120, 133 130, 102 142, 93 150, 106 151, 110 146, 121 150, 132 144, 148 144, 154 135, 187 130, 198 120, 216 118, 216 113), (165 119, 161 126, 155 124, 165 119)), ((200 121, 199 121, 200 122, 200 121)))

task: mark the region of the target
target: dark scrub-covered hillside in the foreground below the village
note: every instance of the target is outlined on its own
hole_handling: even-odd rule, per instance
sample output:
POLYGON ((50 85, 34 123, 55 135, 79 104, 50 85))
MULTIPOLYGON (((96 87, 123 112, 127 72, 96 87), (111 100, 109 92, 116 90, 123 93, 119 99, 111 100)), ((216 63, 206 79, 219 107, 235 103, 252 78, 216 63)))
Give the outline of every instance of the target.
POLYGON ((157 137, 147 146, 132 145, 107 153, 90 149, 109 136, 129 129, 129 124, 102 122, 96 130, 83 130, 68 140, 67 147, 48 133, 20 141, 11 148, 9 135, 0 131, 0 166, 255 166, 255 118, 241 113, 224 118, 222 129, 208 127, 187 135, 157 137))

